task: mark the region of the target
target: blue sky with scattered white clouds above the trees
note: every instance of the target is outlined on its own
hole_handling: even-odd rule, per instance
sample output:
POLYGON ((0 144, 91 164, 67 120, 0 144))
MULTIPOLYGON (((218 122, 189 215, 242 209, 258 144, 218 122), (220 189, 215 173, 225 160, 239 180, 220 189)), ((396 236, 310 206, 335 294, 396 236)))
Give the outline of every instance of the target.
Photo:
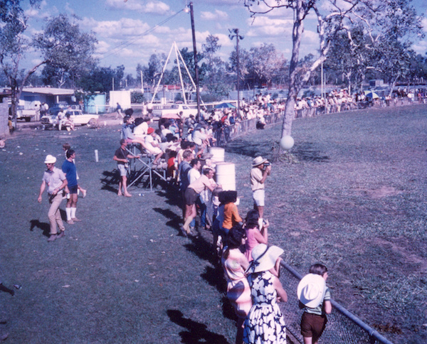
MULTIPOLYGON (((184 11, 188 0, 42 0, 38 9, 32 9, 28 1, 24 4, 30 35, 39 32, 50 16, 78 16, 80 29, 95 33, 96 57, 102 67, 125 65, 126 73, 135 74, 138 63, 147 65, 153 53, 168 55, 174 42, 179 49, 193 50, 191 16, 184 11)), ((419 14, 427 17, 427 0, 413 0, 412 4, 419 14)), ((221 45, 218 54, 228 60, 236 45, 236 38, 233 41, 228 38, 228 30, 238 28, 243 36, 239 48, 249 50, 263 43, 273 43, 285 58, 290 58, 292 11, 276 9, 254 19, 243 6, 243 0, 193 0, 193 7, 198 51, 206 37, 214 35, 221 45)), ((423 26, 427 36, 427 18, 423 19, 423 26)), ((308 53, 316 55, 315 30, 315 17, 309 15, 301 58, 308 53)), ((413 49, 425 54, 427 38, 414 43, 413 49)), ((37 61, 36 56, 31 56, 24 67, 29 68, 37 61)))

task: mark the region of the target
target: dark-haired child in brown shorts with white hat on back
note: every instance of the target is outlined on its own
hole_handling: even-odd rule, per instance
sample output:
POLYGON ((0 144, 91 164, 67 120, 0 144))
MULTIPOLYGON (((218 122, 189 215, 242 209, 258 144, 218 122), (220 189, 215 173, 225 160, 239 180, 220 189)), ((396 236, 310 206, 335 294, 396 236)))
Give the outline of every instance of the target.
POLYGON ((326 285, 327 267, 313 264, 310 274, 301 279, 297 288, 300 308, 304 309, 301 318, 301 334, 304 344, 317 344, 325 330, 326 314, 332 312, 330 289, 326 285))

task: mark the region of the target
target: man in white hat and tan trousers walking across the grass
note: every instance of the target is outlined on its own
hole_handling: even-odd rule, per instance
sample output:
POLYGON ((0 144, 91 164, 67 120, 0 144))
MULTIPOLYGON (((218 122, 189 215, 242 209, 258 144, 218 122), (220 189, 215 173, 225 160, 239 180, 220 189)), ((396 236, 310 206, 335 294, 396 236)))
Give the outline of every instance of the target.
POLYGON ((61 192, 63 188, 67 185, 67 179, 65 174, 60 168, 55 167, 56 157, 49 154, 46 156, 46 171, 43 174, 43 179, 41 181, 40 193, 38 194, 38 203, 41 203, 41 195, 43 194, 46 186, 48 187, 48 200, 51 203, 51 208, 48 211, 49 222, 51 224, 51 236, 48 239, 48 242, 53 242, 60 237, 65 235, 65 227, 63 220, 60 217, 59 206, 63 200, 63 193, 61 192), (60 234, 58 234, 59 227, 60 234))

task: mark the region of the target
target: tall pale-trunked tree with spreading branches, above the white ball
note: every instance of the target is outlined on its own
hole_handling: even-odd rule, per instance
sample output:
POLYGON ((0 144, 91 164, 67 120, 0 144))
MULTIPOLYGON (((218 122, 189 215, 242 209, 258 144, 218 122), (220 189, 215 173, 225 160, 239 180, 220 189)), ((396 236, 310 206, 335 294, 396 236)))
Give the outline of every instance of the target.
POLYGON ((265 15, 277 9, 288 9, 293 13, 290 83, 282 136, 291 132, 292 119, 295 117, 295 100, 300 87, 326 60, 337 34, 345 32, 352 41, 351 29, 358 23, 374 40, 374 35, 376 39, 381 39, 381 36, 390 31, 400 35, 408 28, 421 26, 420 19, 411 16, 413 13, 411 0, 244 0, 244 6, 251 12, 251 16, 265 15), (319 50, 312 65, 301 68, 300 45, 304 24, 309 14, 313 14, 317 19, 319 50))

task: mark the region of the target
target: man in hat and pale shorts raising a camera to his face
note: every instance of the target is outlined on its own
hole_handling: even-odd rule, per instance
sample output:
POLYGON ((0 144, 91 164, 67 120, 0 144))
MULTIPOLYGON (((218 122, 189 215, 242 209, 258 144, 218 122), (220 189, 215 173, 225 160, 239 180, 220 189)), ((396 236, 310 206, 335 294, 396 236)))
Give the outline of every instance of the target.
POLYGON ((252 161, 251 169, 251 188, 253 197, 253 208, 258 210, 260 215, 260 223, 263 222, 264 217, 264 202, 265 192, 264 183, 265 179, 270 176, 271 165, 267 159, 262 156, 257 156, 252 161))

